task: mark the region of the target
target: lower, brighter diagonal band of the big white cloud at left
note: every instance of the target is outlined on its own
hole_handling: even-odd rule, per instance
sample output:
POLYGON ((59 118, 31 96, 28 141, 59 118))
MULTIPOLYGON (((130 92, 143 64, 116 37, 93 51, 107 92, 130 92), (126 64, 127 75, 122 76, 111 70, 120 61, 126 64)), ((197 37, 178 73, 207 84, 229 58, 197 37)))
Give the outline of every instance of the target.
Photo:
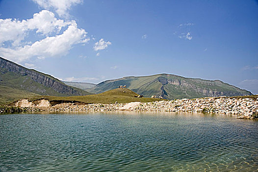
POLYGON ((87 32, 84 29, 78 29, 77 24, 74 23, 62 34, 46 37, 34 42, 32 45, 25 45, 14 49, 0 47, 0 56, 21 62, 31 57, 44 58, 66 55, 73 45, 89 41, 86 34, 87 32))

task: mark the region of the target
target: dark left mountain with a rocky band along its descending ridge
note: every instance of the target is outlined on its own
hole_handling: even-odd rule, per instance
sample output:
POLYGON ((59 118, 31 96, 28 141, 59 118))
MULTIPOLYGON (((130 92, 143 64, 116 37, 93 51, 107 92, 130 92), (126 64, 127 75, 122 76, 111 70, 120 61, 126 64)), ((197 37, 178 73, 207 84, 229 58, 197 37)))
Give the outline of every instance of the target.
MULTIPOLYGON (((79 88, 67 86, 50 75, 27 69, 0 57, 0 96, 2 100, 7 100, 7 94, 19 92, 19 90, 22 94, 28 96, 35 94, 53 96, 90 94, 79 88)), ((15 97, 15 95, 11 97, 15 97)), ((19 94, 16 97, 20 97, 19 94)))

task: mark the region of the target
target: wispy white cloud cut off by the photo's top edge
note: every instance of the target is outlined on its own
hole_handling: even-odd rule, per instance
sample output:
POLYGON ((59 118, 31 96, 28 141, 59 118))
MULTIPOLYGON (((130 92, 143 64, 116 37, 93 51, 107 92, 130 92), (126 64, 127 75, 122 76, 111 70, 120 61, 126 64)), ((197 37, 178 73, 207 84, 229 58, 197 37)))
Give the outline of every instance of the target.
POLYGON ((69 16, 68 10, 72 5, 80 4, 83 0, 32 0, 40 7, 53 9, 59 16, 69 16))

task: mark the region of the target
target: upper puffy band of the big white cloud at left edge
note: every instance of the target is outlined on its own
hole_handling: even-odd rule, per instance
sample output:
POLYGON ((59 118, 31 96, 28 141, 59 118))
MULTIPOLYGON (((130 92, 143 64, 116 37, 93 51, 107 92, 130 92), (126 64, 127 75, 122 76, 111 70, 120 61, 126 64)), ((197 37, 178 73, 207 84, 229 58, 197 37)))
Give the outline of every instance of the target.
POLYGON ((58 33, 62 27, 74 25, 75 21, 64 22, 57 20, 54 14, 48 10, 35 13, 33 18, 19 21, 17 19, 0 19, 0 44, 11 41, 12 46, 20 46, 29 31, 49 35, 52 32, 58 33))

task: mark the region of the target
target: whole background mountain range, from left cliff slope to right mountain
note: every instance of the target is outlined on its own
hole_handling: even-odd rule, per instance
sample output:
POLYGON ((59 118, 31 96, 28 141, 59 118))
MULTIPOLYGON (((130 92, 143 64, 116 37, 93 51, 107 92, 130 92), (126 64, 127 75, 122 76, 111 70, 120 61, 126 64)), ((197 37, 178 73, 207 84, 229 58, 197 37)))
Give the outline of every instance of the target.
POLYGON ((0 89, 4 90, 9 89, 11 91, 14 90, 12 88, 15 88, 15 92, 17 92, 17 89, 21 89, 40 95, 78 96, 91 94, 90 92, 102 93, 121 85, 126 85, 132 91, 145 97, 155 95, 156 97, 161 96, 169 100, 252 95, 250 91, 229 85, 220 80, 186 78, 166 73, 149 76, 126 76, 106 80, 97 85, 81 82, 64 82, 51 75, 34 69, 27 69, 0 57, 0 89))

